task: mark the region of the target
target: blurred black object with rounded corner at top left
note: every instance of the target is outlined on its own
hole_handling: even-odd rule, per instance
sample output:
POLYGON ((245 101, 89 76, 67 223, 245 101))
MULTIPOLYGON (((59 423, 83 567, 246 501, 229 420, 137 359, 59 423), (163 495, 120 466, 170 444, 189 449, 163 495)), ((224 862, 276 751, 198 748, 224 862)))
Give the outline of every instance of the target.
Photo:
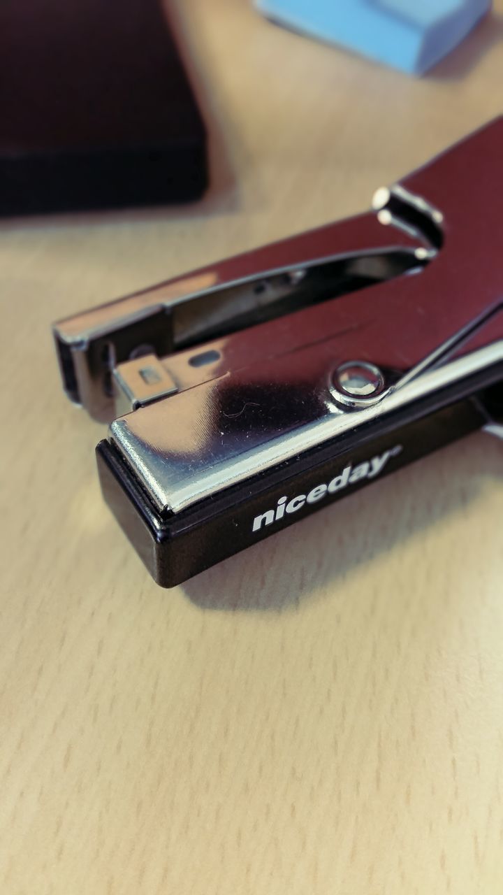
POLYGON ((0 215, 195 200, 207 183, 158 0, 1 0, 0 215))

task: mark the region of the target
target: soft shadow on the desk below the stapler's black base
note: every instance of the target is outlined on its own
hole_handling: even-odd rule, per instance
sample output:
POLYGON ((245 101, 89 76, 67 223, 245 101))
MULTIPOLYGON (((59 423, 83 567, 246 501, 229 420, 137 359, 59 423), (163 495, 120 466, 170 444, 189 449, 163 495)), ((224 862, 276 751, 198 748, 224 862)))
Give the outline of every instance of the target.
MULTIPOLYGON (((405 467, 392 477, 401 488, 391 505, 390 479, 374 482, 353 497, 326 507, 267 541, 226 559, 183 584, 189 600, 201 609, 243 612, 278 612, 296 609, 301 601, 320 598, 332 585, 332 595, 358 567, 379 555, 398 551, 429 526, 442 524, 481 495, 487 478, 502 474, 502 448, 498 439, 477 434, 450 452, 449 478, 439 480, 434 456, 422 459, 422 498, 404 500, 405 467), (480 468, 484 441, 483 468, 480 468), (477 468, 479 467, 479 468, 477 468), (463 482, 463 490, 458 483, 463 482), (383 515, 383 504, 387 507, 383 515)), ((414 467, 417 469, 417 466, 414 467)), ((417 493, 417 490, 416 490, 417 493)))

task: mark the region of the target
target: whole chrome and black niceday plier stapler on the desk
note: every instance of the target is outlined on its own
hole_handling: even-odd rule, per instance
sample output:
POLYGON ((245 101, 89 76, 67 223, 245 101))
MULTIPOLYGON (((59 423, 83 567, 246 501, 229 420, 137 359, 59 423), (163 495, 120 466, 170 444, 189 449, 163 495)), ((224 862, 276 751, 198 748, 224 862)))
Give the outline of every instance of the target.
POLYGON ((503 421, 503 118, 367 214, 55 324, 107 503, 172 586, 503 421))

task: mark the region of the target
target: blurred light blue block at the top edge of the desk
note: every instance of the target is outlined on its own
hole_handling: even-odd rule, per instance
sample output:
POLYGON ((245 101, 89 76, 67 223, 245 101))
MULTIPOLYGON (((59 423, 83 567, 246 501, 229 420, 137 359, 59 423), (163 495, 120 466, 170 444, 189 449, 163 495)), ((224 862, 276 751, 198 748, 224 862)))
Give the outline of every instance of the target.
POLYGON ((450 53, 490 0, 255 0, 269 19, 422 74, 450 53))

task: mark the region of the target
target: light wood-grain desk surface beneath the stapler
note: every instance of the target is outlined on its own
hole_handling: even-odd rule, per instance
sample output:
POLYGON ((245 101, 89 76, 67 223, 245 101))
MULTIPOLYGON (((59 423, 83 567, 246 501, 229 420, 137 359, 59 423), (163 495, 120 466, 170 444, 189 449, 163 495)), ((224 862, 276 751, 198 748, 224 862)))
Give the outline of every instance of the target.
POLYGON ((503 445, 165 592, 100 499, 103 429, 64 399, 49 324, 365 209, 499 114, 503 0, 422 81, 245 0, 179 6, 208 198, 0 228, 0 891, 498 893, 503 445))

